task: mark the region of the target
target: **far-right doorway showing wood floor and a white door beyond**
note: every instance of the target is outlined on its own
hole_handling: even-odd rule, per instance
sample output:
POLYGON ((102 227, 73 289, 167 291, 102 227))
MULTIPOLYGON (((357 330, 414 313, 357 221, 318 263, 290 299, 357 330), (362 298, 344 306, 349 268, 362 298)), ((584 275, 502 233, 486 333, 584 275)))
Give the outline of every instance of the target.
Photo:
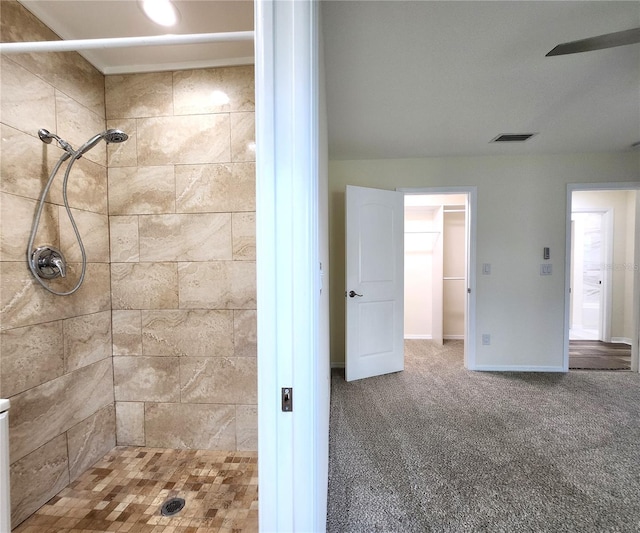
POLYGON ((638 370, 640 185, 569 185, 565 369, 638 370))

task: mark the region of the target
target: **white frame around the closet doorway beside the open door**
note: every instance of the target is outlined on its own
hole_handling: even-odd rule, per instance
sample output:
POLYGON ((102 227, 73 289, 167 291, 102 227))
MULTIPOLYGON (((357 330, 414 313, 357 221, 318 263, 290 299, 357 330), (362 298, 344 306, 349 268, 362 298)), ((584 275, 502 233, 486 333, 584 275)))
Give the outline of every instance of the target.
POLYGON ((477 197, 478 188, 469 187, 398 187, 405 194, 467 194, 467 308, 465 309, 464 365, 476 370, 476 244, 477 244, 477 197))

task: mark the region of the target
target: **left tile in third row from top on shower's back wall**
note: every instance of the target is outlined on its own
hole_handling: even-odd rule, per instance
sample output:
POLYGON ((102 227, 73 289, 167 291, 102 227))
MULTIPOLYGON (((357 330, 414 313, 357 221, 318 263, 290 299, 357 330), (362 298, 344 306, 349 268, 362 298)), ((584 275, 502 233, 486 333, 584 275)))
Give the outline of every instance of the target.
POLYGON ((173 166, 109 169, 109 214, 174 213, 176 184, 173 166))

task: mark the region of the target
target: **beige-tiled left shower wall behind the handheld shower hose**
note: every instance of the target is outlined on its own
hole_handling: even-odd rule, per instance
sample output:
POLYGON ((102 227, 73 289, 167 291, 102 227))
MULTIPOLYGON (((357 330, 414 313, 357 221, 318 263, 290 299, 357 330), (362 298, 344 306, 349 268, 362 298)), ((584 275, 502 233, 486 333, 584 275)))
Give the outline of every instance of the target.
MULTIPOLYGON (((5 42, 58 39, 14 0, 2 0, 0 26, 5 42)), ((79 147, 105 129, 105 93, 104 76, 77 53, 3 55, 1 61, 0 395, 12 402, 17 525, 69 482, 70 462, 76 473, 98 453, 74 444, 83 423, 93 420, 92 435, 104 436, 95 442, 114 442, 113 422, 93 416, 114 401, 104 143, 75 162, 68 180, 68 200, 89 252, 82 287, 71 296, 54 296, 36 282, 25 261, 40 195, 64 154, 55 141, 43 143, 38 130, 79 147)), ((66 213, 58 217, 65 167, 49 190, 35 239, 36 246, 62 248, 69 261, 67 278, 45 282, 58 290, 72 288, 81 267, 74 262, 79 255, 69 249, 77 245, 66 213)))

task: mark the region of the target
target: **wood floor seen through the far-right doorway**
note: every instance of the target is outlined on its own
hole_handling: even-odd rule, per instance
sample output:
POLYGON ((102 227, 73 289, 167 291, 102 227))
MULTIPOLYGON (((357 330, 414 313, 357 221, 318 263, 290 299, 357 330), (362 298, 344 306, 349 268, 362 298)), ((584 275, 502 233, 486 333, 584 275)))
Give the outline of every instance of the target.
POLYGON ((601 341, 569 341, 570 370, 631 370, 631 346, 601 341))

